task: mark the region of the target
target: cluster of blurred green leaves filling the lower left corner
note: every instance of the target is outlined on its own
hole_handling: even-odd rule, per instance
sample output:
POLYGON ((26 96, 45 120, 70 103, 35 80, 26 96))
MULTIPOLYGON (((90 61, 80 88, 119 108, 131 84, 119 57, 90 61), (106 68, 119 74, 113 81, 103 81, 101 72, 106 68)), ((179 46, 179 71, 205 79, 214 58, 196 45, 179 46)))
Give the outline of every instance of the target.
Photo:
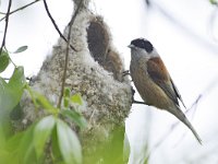
MULTIPOLYGON (((27 46, 22 46, 13 54, 26 49, 27 46)), ((0 73, 11 61, 10 52, 3 49, 0 55, 0 73)), ((45 163, 48 160, 52 163, 82 163, 80 140, 65 121, 68 119, 85 128, 86 120, 76 109, 82 105, 84 102, 81 95, 71 95, 70 90, 65 89, 63 106, 56 107, 44 95, 31 89, 24 68, 14 65, 10 79, 0 77, 0 163, 45 163), (35 107, 43 108, 48 115, 33 122, 26 130, 14 133, 10 115, 17 108, 24 91, 29 93, 35 107)))

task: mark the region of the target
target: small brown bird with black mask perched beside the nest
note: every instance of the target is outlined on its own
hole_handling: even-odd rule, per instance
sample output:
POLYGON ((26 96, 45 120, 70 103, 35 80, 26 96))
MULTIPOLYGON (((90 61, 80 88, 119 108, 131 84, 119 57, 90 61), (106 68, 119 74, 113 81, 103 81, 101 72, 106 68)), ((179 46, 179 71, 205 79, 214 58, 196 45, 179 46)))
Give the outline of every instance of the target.
POLYGON ((179 101, 185 107, 184 102, 153 44, 136 38, 128 47, 131 49, 130 75, 144 103, 174 115, 202 144, 202 139, 181 110, 179 101))

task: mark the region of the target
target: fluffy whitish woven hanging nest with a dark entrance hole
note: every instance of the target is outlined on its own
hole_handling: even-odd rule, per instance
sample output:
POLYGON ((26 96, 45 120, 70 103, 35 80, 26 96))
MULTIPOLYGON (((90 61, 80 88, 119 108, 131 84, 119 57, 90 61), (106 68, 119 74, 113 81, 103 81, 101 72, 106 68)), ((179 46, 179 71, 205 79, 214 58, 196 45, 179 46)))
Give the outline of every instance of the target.
MULTIPOLYGON (((64 31, 65 37, 68 33, 69 27, 64 31)), ((123 124, 131 108, 131 86, 128 78, 122 77, 122 60, 111 44, 111 35, 104 20, 85 8, 73 23, 71 45, 76 51, 70 49, 65 86, 71 89, 72 94, 80 93, 86 102, 80 110, 88 120, 89 129, 99 130, 101 134, 106 131, 107 136, 108 125, 123 124)), ((59 101, 65 54, 66 43, 60 38, 31 82, 32 89, 52 104, 59 101)), ((24 127, 46 115, 45 110, 35 110, 26 93, 21 106, 24 127)))

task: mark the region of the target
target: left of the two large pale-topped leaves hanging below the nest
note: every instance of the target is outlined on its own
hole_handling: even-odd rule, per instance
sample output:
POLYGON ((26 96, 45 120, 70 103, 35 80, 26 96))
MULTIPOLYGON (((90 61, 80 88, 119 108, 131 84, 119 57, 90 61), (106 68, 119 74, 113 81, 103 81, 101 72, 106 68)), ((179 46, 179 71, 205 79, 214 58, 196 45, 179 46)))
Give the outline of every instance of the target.
POLYGON ((34 129, 34 147, 37 159, 43 156, 45 144, 51 136, 55 125, 56 118, 53 116, 47 116, 36 125, 34 129))

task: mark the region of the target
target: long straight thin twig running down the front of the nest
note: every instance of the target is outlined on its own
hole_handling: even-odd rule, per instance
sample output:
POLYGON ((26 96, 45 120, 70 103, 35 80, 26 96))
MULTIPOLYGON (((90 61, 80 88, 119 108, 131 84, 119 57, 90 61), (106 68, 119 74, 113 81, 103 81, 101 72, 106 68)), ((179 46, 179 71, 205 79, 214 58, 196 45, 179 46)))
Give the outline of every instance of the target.
MULTIPOLYGON (((44 0, 46 1, 46 0, 44 0)), ((69 52, 70 52, 70 42, 71 42, 71 30, 72 30, 72 26, 73 26, 73 23, 75 21, 75 17, 76 15, 78 14, 78 11, 81 9, 83 4, 83 0, 81 0, 80 4, 77 5, 77 9, 76 11, 74 12, 70 23, 69 23, 69 34, 68 34, 68 46, 66 46, 66 52, 65 52, 65 65, 64 65, 64 70, 63 70, 63 79, 62 79, 62 85, 61 85, 61 95, 59 97, 59 102, 58 102, 58 108, 61 107, 61 101, 62 101, 62 97, 63 97, 63 91, 64 91, 64 86, 65 86, 65 78, 66 78, 66 70, 68 70, 68 61, 69 61, 69 52)), ((72 48, 72 47, 71 47, 72 48)))

